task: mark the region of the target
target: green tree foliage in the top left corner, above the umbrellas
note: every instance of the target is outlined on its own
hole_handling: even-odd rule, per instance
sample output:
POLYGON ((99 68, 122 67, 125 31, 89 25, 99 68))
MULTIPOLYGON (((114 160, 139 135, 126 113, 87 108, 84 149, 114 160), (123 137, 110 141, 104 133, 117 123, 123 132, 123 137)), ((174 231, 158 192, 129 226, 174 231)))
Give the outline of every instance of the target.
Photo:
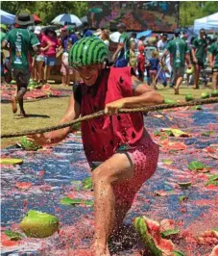
POLYGON ((50 24, 56 16, 62 13, 83 17, 88 9, 85 1, 2 1, 1 4, 1 9, 8 13, 16 14, 24 10, 36 13, 42 19, 42 24, 50 24))

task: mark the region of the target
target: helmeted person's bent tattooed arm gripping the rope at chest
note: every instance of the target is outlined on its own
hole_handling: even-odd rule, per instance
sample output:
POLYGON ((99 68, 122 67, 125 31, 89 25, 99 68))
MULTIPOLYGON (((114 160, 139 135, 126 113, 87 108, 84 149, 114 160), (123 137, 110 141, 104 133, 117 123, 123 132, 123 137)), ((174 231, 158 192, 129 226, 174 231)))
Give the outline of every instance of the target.
POLYGON ((156 90, 139 81, 135 76, 132 76, 132 81, 134 96, 110 102, 106 105, 106 114, 116 114, 122 108, 133 109, 163 103, 163 97, 156 90))

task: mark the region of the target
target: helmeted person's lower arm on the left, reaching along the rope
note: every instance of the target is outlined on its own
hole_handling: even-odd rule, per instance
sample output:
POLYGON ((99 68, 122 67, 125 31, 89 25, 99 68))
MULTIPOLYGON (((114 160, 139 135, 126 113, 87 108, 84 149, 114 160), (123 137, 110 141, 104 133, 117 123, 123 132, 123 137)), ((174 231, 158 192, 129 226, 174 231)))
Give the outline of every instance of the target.
MULTIPOLYGON (((80 105, 76 102, 74 94, 72 93, 69 100, 69 105, 66 110, 65 115, 61 118, 59 124, 65 122, 71 122, 74 119, 78 118, 81 113, 80 105)), ((72 127, 66 127, 61 130, 53 131, 46 134, 33 135, 29 137, 30 141, 34 141, 36 144, 43 145, 49 143, 58 143, 62 141, 70 132, 72 127)))

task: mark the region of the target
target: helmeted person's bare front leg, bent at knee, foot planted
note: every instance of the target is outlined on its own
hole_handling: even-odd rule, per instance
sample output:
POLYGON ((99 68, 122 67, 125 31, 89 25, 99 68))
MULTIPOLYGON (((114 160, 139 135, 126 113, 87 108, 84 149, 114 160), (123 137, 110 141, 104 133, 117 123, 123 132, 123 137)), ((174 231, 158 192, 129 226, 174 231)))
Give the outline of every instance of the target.
POLYGON ((96 256, 109 256, 108 239, 116 223, 116 204, 112 186, 132 178, 133 165, 125 154, 113 155, 93 171, 96 256))

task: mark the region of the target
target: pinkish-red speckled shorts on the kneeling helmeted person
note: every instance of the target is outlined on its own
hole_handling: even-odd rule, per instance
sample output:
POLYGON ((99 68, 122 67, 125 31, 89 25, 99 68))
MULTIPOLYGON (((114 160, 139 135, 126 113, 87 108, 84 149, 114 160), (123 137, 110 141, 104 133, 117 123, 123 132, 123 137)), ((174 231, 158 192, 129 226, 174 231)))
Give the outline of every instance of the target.
POLYGON ((134 166, 133 179, 113 187, 117 204, 133 203, 135 194, 156 171, 159 146, 150 138, 143 138, 136 148, 126 151, 134 166))

